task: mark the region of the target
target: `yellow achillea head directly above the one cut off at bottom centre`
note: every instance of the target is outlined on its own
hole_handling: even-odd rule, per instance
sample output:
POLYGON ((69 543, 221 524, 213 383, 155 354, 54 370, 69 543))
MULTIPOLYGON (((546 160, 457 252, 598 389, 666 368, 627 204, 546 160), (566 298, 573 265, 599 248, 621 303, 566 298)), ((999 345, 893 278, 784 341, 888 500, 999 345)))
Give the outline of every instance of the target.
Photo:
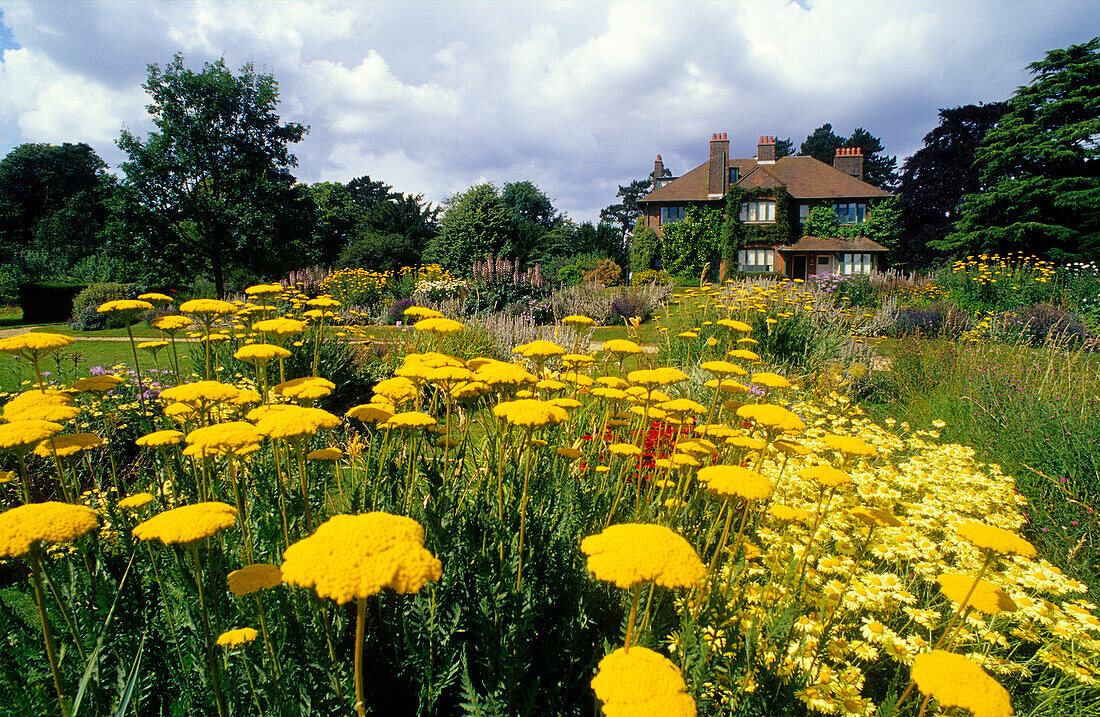
POLYGON ((706 567, 686 540, 664 526, 610 526, 581 541, 588 570, 618 587, 657 583, 664 587, 702 584, 706 567))

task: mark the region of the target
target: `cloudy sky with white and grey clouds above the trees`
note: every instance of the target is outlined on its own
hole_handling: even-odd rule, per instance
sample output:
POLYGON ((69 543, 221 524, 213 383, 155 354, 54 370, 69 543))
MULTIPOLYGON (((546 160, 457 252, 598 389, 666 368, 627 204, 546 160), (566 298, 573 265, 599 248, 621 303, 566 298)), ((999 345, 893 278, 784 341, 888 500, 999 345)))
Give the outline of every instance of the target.
POLYGON ((120 130, 152 129, 146 66, 179 52, 275 76, 283 119, 310 126, 301 181, 440 201, 530 179, 592 220, 658 153, 675 174, 704 162, 714 132, 752 156, 761 134, 865 126, 901 161, 939 108, 1004 99, 1098 29, 1088 0, 0 0, 0 156, 87 142, 117 166, 120 130))

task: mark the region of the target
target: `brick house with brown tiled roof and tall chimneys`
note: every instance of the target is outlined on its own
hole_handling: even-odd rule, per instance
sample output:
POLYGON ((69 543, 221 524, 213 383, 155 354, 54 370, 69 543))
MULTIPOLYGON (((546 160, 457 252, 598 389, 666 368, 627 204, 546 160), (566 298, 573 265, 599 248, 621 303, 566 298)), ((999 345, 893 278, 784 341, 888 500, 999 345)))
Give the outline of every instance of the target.
POLYGON ((730 189, 744 195, 738 217, 745 229, 737 257, 741 272, 781 272, 805 279, 815 274, 869 274, 882 266, 887 249, 869 239, 801 232, 813 207, 832 208, 840 223, 860 223, 868 207, 892 196, 864 181, 859 147, 838 148, 829 166, 810 156, 777 159, 776 137, 761 136, 757 155, 739 159, 729 157, 729 140, 721 133, 711 139, 707 162, 673 177, 658 155, 650 177, 653 189, 638 200, 638 221, 658 235, 683 219, 689 205, 724 210, 730 189))

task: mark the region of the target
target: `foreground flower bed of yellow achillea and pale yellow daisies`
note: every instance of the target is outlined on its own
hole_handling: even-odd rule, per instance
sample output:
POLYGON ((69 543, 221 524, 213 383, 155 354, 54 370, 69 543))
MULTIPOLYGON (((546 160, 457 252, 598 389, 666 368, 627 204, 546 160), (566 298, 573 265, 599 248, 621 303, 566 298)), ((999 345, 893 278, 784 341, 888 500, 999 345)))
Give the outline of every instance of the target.
POLYGON ((777 353, 805 291, 683 289, 690 326, 656 354, 565 353, 575 318, 560 344, 447 353, 462 317, 417 310, 352 384, 369 330, 268 286, 180 307, 227 339, 156 373, 144 413, 153 382, 124 368, 35 376, 0 423, 21 482, 0 483, 0 704, 1094 712, 1096 605, 1036 549, 1013 477, 777 353), (66 417, 22 417, 46 409, 66 417))

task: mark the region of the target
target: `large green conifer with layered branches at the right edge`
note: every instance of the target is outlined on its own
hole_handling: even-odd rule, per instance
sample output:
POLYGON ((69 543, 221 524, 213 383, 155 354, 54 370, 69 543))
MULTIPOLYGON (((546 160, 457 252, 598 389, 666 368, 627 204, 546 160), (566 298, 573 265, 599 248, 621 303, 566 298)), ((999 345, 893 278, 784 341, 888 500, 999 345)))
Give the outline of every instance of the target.
POLYGON ((963 200, 950 252, 1056 261, 1100 251, 1100 37, 1053 49, 977 151, 983 189, 963 200))

